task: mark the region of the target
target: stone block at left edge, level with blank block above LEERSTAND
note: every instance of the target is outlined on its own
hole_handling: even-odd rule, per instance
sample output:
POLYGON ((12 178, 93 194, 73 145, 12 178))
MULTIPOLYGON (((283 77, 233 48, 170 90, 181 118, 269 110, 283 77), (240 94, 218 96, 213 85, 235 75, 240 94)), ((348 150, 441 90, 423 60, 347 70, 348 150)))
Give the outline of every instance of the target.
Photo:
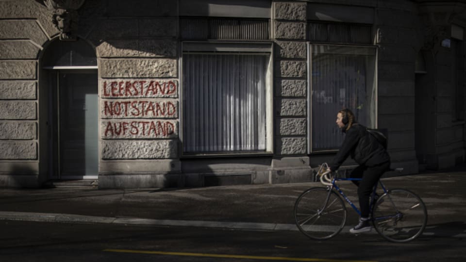
POLYGON ((0 61, 0 79, 36 79, 34 61, 0 61))

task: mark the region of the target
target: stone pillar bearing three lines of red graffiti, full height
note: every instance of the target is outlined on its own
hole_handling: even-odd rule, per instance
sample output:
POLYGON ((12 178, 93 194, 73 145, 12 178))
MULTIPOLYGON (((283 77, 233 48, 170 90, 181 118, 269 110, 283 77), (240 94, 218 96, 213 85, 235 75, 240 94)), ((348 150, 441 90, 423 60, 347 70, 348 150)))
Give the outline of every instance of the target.
POLYGON ((100 188, 178 186, 178 1, 117 0, 89 40, 97 46, 100 188))

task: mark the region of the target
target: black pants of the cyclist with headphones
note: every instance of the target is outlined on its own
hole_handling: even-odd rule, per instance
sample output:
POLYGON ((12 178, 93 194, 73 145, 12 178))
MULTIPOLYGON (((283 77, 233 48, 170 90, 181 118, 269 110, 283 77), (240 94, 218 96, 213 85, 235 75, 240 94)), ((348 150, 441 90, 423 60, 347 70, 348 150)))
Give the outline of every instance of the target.
POLYGON ((360 165, 351 171, 350 178, 362 178, 360 181, 353 181, 358 186, 359 208, 361 217, 369 217, 369 197, 375 184, 382 177, 383 173, 390 170, 390 162, 385 162, 376 166, 360 165))

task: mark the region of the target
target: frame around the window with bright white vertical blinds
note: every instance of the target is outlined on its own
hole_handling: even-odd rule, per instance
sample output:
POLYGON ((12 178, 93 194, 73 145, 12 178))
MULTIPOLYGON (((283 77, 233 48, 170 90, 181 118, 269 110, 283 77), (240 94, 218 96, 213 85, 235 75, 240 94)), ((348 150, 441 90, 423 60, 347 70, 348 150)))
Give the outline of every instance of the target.
POLYGON ((235 41, 183 41, 180 45, 179 72, 180 72, 180 157, 244 157, 244 156, 271 156, 274 153, 274 128, 273 128, 273 90, 274 90, 274 63, 272 42, 235 42, 235 41), (184 83, 183 83, 183 55, 184 54, 267 54, 268 64, 266 71, 266 150, 264 151, 218 151, 218 152, 185 152, 184 151, 184 83))

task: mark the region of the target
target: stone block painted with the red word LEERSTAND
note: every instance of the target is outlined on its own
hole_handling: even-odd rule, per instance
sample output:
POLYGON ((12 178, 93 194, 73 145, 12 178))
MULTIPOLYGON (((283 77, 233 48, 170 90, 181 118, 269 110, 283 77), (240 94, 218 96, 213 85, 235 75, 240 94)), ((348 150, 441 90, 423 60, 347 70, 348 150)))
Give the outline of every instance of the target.
POLYGON ((176 98, 176 79, 104 79, 100 81, 102 98, 176 98))

